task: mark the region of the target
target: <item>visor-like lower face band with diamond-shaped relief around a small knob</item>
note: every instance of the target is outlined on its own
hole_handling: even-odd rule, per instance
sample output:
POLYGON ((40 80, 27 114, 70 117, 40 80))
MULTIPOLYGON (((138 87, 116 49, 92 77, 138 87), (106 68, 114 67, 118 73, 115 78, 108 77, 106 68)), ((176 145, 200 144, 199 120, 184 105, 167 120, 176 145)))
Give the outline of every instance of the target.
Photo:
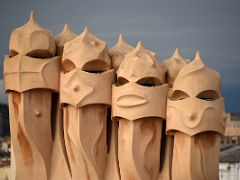
POLYGON ((82 107, 89 104, 111 105, 114 70, 100 74, 75 69, 61 74, 61 103, 82 107))

